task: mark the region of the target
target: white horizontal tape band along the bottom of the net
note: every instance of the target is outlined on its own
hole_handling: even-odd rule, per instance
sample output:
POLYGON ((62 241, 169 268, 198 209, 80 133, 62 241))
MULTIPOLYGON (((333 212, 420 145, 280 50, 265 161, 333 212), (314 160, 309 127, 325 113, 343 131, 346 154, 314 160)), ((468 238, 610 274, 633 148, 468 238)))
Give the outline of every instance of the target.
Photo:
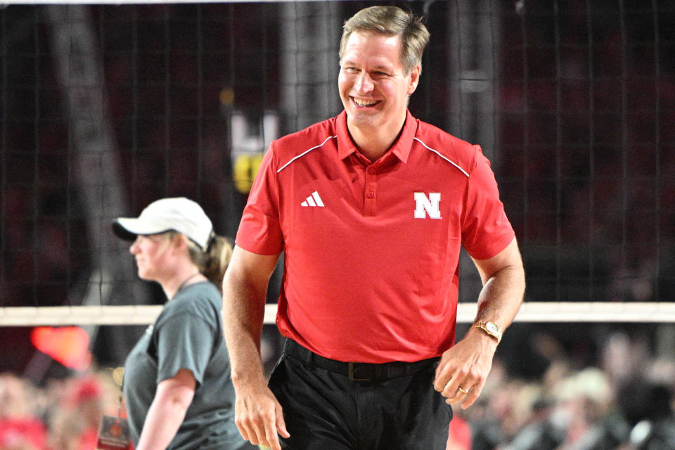
MULTIPOLYGON (((0 326, 146 325, 153 323, 162 305, 86 307, 2 307, 0 326)), ((471 323, 477 305, 460 303, 457 321, 471 323)), ((274 324, 276 304, 265 305, 264 323, 274 324)), ((653 322, 675 323, 670 302, 527 302, 520 322, 653 322)))

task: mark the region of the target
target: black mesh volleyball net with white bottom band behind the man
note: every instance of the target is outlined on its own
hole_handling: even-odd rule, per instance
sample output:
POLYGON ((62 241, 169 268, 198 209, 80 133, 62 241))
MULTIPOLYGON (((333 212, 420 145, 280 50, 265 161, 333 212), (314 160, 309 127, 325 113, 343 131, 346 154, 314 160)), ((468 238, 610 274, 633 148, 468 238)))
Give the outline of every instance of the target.
MULTIPOLYGON (((431 34, 411 113, 491 160, 527 273, 517 321, 673 322, 675 6, 390 4, 431 34)), ((164 298, 110 223, 184 195, 233 237, 269 142, 340 112, 341 26, 364 6, 1 8, 3 336, 117 325, 97 340, 119 361, 164 298)), ((466 255, 459 276, 466 323, 480 291, 466 255)))

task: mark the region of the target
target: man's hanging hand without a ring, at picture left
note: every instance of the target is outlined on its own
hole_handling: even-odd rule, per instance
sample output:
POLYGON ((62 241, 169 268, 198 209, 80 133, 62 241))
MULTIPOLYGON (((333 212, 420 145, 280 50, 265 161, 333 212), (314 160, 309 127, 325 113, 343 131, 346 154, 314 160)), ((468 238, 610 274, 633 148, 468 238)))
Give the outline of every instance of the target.
POLYGON ((283 421, 281 405, 266 385, 236 389, 234 421, 242 437, 251 444, 281 450, 280 434, 290 437, 283 421))

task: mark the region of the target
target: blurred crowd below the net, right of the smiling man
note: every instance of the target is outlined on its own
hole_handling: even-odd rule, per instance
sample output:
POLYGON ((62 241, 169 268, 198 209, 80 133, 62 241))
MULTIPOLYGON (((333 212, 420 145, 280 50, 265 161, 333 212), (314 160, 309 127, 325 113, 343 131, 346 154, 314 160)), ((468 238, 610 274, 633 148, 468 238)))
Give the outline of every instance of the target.
POLYGON ((509 376, 498 358, 477 404, 456 409, 471 449, 675 449, 675 359, 614 332, 597 364, 578 367, 550 335, 536 340, 549 357, 541 378, 509 376))

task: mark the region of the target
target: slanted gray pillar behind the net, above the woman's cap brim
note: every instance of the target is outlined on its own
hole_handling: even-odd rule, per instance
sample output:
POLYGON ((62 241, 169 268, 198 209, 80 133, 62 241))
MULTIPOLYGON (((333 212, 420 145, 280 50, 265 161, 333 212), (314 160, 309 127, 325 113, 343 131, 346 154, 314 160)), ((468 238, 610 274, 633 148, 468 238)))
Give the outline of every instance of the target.
MULTIPOLYGON (((92 269, 81 304, 93 306, 108 304, 113 295, 110 290, 113 282, 122 278, 123 273, 131 274, 132 263, 131 258, 122 258, 115 250, 120 248, 120 243, 110 231, 111 220, 128 215, 128 208, 105 100, 103 66, 96 47, 98 39, 87 8, 81 4, 50 5, 44 14, 49 22, 56 76, 68 108, 69 145, 75 162, 70 176, 82 200, 82 214, 88 228, 92 269)), ((118 292, 115 295, 127 298, 127 302, 133 298, 132 295, 122 297, 118 292)), ((72 300, 71 304, 79 303, 77 299, 72 300)), ((98 326, 89 325, 85 329, 91 347, 98 326)), ((123 360, 130 348, 126 342, 129 337, 125 336, 129 333, 124 333, 122 328, 113 333, 116 336, 111 340, 109 351, 123 360)))

